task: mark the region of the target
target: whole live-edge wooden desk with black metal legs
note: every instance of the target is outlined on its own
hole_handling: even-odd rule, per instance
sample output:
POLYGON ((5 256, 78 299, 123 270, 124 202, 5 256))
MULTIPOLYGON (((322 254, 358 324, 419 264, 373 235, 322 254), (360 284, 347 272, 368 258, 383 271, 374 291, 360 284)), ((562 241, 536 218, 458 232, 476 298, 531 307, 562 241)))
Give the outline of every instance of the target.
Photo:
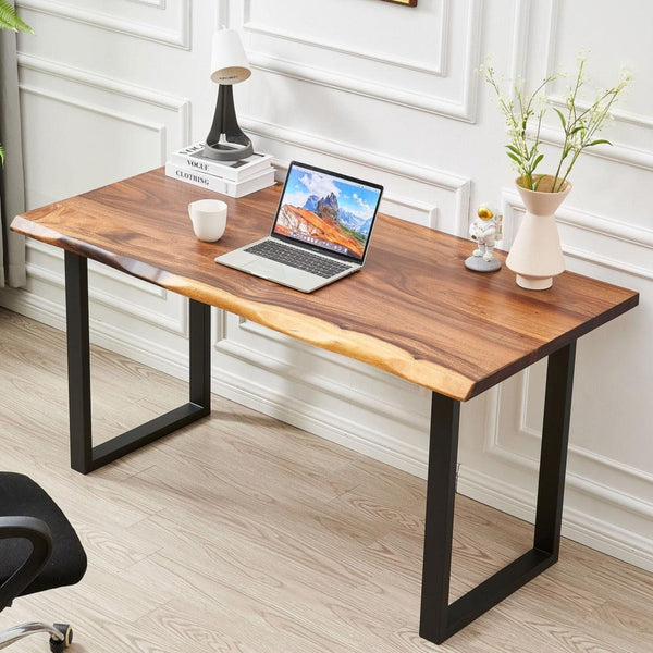
MULTIPOLYGON (((471 244, 380 215, 365 269, 312 295, 217 266, 269 233, 279 187, 224 198, 219 243, 197 241, 189 201, 206 190, 156 170, 23 215, 12 229, 65 250, 71 465, 87 473, 210 411, 210 306, 366 361, 433 391, 420 634, 435 643, 558 556, 576 341, 639 296, 565 272, 529 292, 505 268, 463 266, 471 244), (189 402, 93 446, 87 259, 190 299, 189 402), (533 547, 448 605, 460 402, 549 356, 533 547)), ((502 255, 500 254, 500 257, 502 255)))

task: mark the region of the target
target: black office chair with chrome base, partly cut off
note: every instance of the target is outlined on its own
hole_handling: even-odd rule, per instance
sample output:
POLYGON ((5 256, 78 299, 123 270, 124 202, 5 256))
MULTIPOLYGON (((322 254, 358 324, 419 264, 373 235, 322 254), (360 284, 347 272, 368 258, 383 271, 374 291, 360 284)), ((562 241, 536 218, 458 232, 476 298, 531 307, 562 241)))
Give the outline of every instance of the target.
MULTIPOLYGON (((86 554, 59 506, 32 479, 0 472, 0 612, 17 596, 78 582, 86 554)), ((61 653, 73 639, 67 624, 30 623, 0 632, 0 649, 36 632, 61 653)))

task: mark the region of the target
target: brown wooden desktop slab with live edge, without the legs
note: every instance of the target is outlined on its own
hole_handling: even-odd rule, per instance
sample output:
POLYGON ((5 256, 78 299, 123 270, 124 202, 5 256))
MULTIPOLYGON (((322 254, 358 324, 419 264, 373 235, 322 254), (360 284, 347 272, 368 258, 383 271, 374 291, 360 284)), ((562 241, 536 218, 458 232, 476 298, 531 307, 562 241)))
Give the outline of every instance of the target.
POLYGON ((639 300, 571 272, 525 291, 505 267, 466 270, 471 242, 383 214, 364 270, 311 295, 215 264, 269 233, 279 193, 220 196, 229 220, 218 243, 198 241, 187 213, 214 194, 162 169, 17 215, 12 229, 461 401, 639 300))

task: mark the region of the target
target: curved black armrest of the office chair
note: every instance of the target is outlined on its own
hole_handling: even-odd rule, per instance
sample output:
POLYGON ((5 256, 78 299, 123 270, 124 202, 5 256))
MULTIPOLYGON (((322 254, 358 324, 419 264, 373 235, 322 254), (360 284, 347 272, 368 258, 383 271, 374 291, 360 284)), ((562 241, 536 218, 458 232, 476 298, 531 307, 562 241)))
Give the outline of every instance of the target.
POLYGON ((0 540, 28 540, 32 553, 27 559, 0 586, 0 612, 20 596, 39 575, 52 554, 52 535, 48 525, 35 517, 0 517, 0 540))

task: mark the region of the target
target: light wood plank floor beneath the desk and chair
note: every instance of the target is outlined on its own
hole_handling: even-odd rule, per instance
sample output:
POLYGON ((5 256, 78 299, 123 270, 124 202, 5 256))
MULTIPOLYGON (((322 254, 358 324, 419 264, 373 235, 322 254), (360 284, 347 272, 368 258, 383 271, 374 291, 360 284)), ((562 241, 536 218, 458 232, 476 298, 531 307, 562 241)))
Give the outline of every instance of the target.
MULTIPOLYGON (((186 401, 120 356, 93 365, 98 441, 186 401)), ((70 620, 87 653, 653 651, 651 574, 568 540, 552 569, 426 642, 426 483, 219 397, 202 422, 71 471, 63 334, 1 309, 0 389, 0 467, 52 494, 89 558, 78 586, 17 600, 0 629, 70 620)), ((528 525, 461 496, 455 529, 453 596, 530 546, 528 525)))

